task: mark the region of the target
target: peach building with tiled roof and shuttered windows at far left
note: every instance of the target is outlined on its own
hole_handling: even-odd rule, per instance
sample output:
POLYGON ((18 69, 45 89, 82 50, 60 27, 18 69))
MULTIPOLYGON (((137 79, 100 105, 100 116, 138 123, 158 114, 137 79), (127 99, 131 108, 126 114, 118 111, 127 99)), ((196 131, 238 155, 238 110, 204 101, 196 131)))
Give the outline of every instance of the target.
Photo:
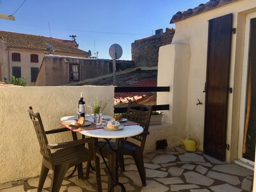
POLYGON ((26 77, 27 84, 34 85, 44 56, 49 54, 89 57, 78 49, 76 40, 0 31, 0 81, 26 77))

